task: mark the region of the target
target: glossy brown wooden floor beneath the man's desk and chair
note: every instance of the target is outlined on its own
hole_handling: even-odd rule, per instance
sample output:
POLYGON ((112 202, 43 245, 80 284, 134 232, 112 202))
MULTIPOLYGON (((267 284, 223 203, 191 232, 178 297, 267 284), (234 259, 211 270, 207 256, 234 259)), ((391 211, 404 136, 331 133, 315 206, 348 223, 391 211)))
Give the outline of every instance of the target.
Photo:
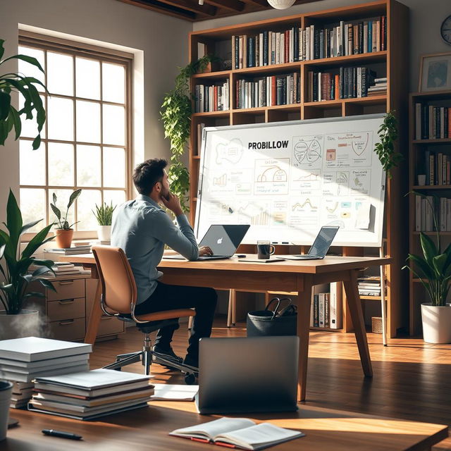
MULTIPOLYGON (((227 328, 216 319, 212 336, 237 337, 246 333, 245 324, 227 328)), ((117 340, 94 345, 92 369, 113 362, 116 354, 142 347, 142 333, 128 328, 117 340)), ((392 339, 388 347, 381 335, 369 333, 373 378, 364 378, 352 333, 311 332, 307 404, 344 409, 398 419, 451 425, 451 345, 429 345, 421 339, 392 339)), ((187 326, 175 333, 173 349, 185 356, 187 326)), ((142 372, 141 364, 127 371, 142 372)), ((159 365, 152 366, 152 381, 183 383, 183 378, 159 365)), ((370 449, 370 448, 369 448, 370 449)), ((433 447, 451 450, 451 438, 433 447)))

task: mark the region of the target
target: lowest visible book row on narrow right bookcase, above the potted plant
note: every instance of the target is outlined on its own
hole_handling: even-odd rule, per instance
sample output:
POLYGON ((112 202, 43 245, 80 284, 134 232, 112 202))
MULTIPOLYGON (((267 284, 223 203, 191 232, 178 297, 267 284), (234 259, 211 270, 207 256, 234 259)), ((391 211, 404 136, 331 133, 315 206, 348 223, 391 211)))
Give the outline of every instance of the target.
POLYGON ((434 215, 438 220, 440 232, 451 232, 451 199, 447 197, 415 195, 415 230, 416 232, 434 232, 434 215))

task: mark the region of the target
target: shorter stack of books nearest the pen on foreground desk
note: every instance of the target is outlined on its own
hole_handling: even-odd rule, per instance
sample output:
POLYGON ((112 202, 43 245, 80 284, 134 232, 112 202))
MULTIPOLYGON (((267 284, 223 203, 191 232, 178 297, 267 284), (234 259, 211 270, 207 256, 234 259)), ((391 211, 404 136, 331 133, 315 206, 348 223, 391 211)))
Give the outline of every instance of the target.
POLYGON ((150 377, 111 369, 37 377, 28 409, 90 420, 147 407, 154 394, 150 377))

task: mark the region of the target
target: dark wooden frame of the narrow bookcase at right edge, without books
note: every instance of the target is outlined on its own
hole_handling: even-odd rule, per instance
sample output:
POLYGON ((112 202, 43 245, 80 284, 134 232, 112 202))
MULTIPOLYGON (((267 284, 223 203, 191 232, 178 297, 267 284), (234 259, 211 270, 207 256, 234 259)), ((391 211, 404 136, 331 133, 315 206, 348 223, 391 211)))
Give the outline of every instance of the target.
MULTIPOLYGON (((417 176, 426 171, 425 152, 438 154, 443 152, 451 158, 450 138, 435 138, 416 140, 416 112, 415 105, 451 106, 451 91, 416 92, 409 97, 409 191, 421 192, 435 197, 451 197, 451 185, 419 185, 417 176)), ((436 206, 438 208, 438 206, 436 206)), ((420 233, 416 230, 415 196, 409 196, 409 252, 421 254, 420 233)), ((424 232, 435 240, 435 232, 424 232)), ((442 245, 447 245, 451 240, 451 232, 440 232, 442 245)), ((421 308, 423 302, 430 302, 420 280, 412 273, 409 275, 409 333, 419 335, 421 333, 421 308)))

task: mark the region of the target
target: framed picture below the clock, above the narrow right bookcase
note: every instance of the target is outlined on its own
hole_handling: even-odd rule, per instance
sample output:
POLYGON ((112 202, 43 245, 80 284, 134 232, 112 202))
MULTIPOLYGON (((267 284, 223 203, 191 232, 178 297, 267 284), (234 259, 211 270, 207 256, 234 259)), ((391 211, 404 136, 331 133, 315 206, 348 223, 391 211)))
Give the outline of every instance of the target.
POLYGON ((420 61, 419 92, 451 89, 451 52, 422 55, 420 61))

